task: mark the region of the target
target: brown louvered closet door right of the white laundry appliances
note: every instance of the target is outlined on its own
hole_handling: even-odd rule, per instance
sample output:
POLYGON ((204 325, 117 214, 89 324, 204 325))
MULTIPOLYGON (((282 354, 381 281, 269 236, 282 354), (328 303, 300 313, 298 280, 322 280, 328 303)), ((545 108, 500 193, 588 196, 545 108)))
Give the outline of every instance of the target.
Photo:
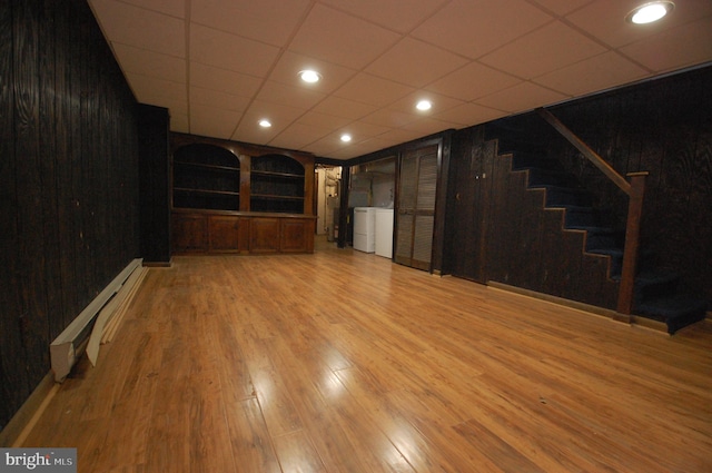
POLYGON ((436 187, 437 146, 404 154, 398 181, 396 263, 431 269, 436 187))

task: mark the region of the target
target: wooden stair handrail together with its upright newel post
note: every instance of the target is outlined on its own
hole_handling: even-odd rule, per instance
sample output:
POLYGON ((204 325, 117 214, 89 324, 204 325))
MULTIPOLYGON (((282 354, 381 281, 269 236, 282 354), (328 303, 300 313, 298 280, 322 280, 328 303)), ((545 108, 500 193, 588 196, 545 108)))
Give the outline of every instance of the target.
POLYGON ((647 173, 629 174, 631 183, 601 156, 599 156, 589 145, 571 131, 558 118, 548 110, 537 108, 538 115, 554 127, 564 138, 578 149, 595 167, 621 188, 629 196, 627 221, 625 224, 625 244, 623 246, 623 267, 621 268, 621 284, 619 286, 619 299, 616 305, 616 319, 629 321, 633 312, 633 294, 635 290, 635 273, 637 267, 637 247, 640 244, 641 216, 643 214, 643 196, 645 194, 645 176, 647 173))

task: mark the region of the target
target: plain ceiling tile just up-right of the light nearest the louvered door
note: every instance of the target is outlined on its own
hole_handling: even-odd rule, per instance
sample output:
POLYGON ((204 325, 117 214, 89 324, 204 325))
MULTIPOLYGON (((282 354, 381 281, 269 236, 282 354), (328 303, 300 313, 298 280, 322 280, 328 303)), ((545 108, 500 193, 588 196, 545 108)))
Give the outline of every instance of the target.
POLYGON ((479 62, 471 62, 431 83, 426 89, 469 101, 506 89, 521 81, 522 79, 494 70, 479 62))

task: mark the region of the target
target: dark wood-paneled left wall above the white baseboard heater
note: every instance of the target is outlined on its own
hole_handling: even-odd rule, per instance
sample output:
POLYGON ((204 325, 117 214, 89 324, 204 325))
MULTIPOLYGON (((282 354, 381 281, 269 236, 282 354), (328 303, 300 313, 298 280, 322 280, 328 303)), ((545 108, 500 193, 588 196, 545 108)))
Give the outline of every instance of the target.
POLYGON ((0 428, 139 256, 135 107, 86 1, 0 2, 0 428))

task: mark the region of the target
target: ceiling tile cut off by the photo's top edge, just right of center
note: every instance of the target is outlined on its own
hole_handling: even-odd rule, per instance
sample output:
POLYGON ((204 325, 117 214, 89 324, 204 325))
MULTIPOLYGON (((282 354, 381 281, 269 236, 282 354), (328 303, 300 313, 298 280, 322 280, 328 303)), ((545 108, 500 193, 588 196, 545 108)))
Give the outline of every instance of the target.
POLYGON ((447 0, 323 0, 332 7, 347 11, 384 28, 400 33, 411 31, 435 12, 447 0))

